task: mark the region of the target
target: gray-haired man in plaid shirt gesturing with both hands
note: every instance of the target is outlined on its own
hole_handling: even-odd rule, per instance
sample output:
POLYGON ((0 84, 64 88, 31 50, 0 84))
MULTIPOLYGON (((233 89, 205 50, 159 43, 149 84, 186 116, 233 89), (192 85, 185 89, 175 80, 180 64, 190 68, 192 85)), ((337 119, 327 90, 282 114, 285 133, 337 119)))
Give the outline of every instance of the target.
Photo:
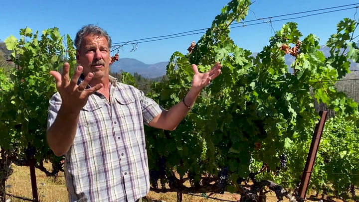
POLYGON ((82 27, 74 40, 80 66, 69 78, 51 71, 58 92, 49 101, 47 142, 65 155, 71 202, 137 202, 150 189, 144 124, 174 130, 203 87, 216 78, 216 63, 202 74, 192 65, 192 87, 169 110, 109 75, 111 37, 98 26, 82 27))

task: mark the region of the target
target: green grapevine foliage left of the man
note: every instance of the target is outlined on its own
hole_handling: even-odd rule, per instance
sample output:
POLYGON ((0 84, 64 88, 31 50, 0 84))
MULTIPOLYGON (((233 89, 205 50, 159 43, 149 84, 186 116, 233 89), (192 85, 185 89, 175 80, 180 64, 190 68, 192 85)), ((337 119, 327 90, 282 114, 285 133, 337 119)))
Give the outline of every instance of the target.
POLYGON ((4 42, 12 51, 11 59, 16 68, 12 69, 10 80, 0 76, 0 147, 16 148, 22 157, 24 149, 32 147, 37 162, 52 160, 54 155, 45 137, 45 117, 56 87, 49 71, 61 68, 64 59, 70 65, 75 64, 72 40, 68 35, 61 36, 56 27, 43 30, 41 35, 26 27, 20 29, 19 39, 11 35, 4 42))

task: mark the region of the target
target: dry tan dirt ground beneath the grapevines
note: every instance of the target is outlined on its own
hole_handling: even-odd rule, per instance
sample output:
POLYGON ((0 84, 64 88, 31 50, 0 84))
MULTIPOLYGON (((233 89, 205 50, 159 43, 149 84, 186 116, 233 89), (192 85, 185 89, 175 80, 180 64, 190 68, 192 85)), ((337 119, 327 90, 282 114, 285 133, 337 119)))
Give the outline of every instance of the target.
MULTIPOLYGON (((44 166, 50 169, 49 164, 44 166)), ((23 198, 31 199, 31 181, 29 167, 19 167, 13 165, 14 173, 6 181, 6 194, 10 201, 7 202, 23 202, 23 198), (22 198, 22 199, 21 199, 22 198)), ((67 202, 67 191, 65 186, 65 179, 63 173, 59 174, 57 179, 52 177, 46 177, 44 173, 36 169, 36 180, 38 188, 38 197, 41 202, 67 202)), ((207 196, 209 193, 207 194, 207 196)), ((277 202, 277 198, 274 193, 266 195, 266 202, 277 202)), ((205 199, 200 194, 182 195, 183 202, 208 202, 208 201, 223 201, 223 202, 236 202, 240 199, 239 195, 225 193, 223 195, 212 195, 209 199, 205 199)), ((162 202, 176 202, 177 193, 155 193, 150 192, 148 196, 143 200, 144 202, 162 201, 162 202)), ((318 199, 307 199, 307 201, 316 202, 318 199)), ((342 202, 336 200, 337 202, 342 202)), ((289 202, 284 199, 283 202, 289 202)))

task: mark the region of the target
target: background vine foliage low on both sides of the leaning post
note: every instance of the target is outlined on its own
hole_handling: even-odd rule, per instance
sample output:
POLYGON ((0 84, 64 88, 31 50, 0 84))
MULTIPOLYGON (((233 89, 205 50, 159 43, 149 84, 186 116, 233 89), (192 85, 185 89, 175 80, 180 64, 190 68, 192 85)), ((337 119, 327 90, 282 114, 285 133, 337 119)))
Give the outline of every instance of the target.
MULTIPOLYGON (((347 120, 345 116, 337 115, 326 122, 309 191, 343 196, 350 192, 351 186, 359 186, 358 132, 355 122, 347 120)), ((298 141, 287 151, 290 154, 287 155, 287 169, 274 176, 272 173, 262 173, 258 178, 270 179, 284 187, 296 189, 300 184, 310 145, 310 139, 298 141)), ((261 162, 254 162, 251 168, 257 170, 262 165, 261 162)))

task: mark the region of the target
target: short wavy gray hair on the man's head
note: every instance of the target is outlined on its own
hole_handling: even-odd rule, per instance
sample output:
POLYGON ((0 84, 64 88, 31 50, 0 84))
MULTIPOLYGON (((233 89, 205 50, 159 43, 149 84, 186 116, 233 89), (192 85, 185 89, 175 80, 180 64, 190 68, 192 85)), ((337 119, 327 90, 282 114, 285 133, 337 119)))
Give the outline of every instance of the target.
POLYGON ((111 37, 107 34, 107 32, 102 29, 99 26, 93 25, 93 24, 89 24, 89 25, 85 25, 83 26, 77 33, 76 33, 76 37, 74 40, 74 45, 76 47, 76 49, 81 49, 81 42, 82 42, 82 38, 86 35, 96 35, 96 36, 103 36, 107 39, 109 48, 111 48, 111 37))

